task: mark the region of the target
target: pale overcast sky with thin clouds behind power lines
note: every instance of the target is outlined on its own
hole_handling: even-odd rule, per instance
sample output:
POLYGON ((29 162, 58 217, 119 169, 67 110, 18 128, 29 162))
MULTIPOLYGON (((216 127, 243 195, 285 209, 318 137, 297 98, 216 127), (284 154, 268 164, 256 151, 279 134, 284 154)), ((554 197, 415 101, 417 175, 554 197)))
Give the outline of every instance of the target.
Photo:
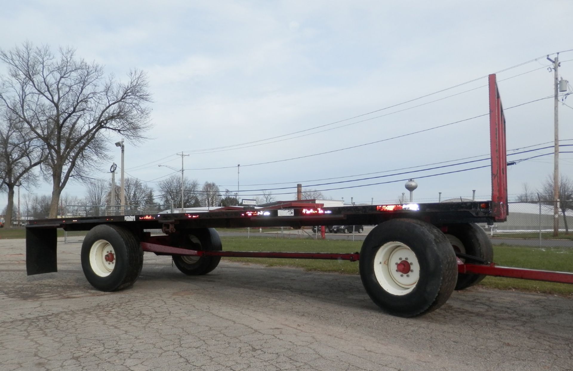
MULTIPOLYGON (((185 157, 189 169, 185 175, 235 192, 237 164, 241 164, 242 198, 261 193, 245 190, 296 187, 296 183, 308 187, 487 155, 486 116, 381 141, 484 115, 488 91, 480 86, 487 84, 486 78, 384 108, 527 61, 531 62, 497 75, 498 80, 508 79, 499 82, 504 108, 549 97, 554 80, 544 68, 550 65, 545 56, 573 49, 568 25, 573 1, 568 0, 162 1, 160 5, 142 0, 50 0, 2 1, 1 9, 2 49, 26 40, 49 44, 54 50, 73 46, 78 56, 105 65, 106 72, 118 77, 130 68, 148 73, 154 97, 153 139, 139 147, 125 145, 126 176, 161 180, 172 171, 158 164, 180 168, 181 157, 175 153, 195 151, 185 157), (445 98, 453 94, 457 95, 445 98), (440 98, 444 99, 431 102, 440 98), (377 112, 364 115, 373 111, 377 112), (355 116, 360 117, 346 120, 355 116), (346 121, 332 124, 341 120, 346 121), (289 135, 295 132, 299 133, 289 135), (257 146, 197 152, 277 136, 281 137, 257 146), (274 143, 263 144, 268 142, 274 143), (357 145, 362 146, 336 151, 357 145), (329 151, 336 152, 252 165, 329 151), (203 169, 220 167, 229 168, 203 169)), ((559 58, 564 61, 560 76, 573 82, 573 52, 559 58)), ((573 144, 573 96, 565 103, 570 107, 559 106, 560 139, 573 144)), ((553 104, 545 99, 507 109, 507 148, 552 145, 553 104)), ((118 165, 120 150, 113 143, 120 139, 109 138, 109 152, 118 165)), ((573 147, 562 151, 573 151, 567 148, 573 147)), ((543 153, 552 149, 508 160, 543 153)), ((561 172, 573 178, 573 153, 560 158, 561 172)), ((510 198, 521 192, 524 182, 539 187, 552 173, 552 161, 548 155, 513 165, 510 198)), ((486 164, 310 188, 327 190, 413 177, 419 184, 414 192, 418 200, 435 201, 438 192, 442 199, 471 198, 472 190, 479 199, 489 199, 489 168, 421 177, 486 164)), ((93 176, 109 179, 109 165, 103 164, 93 176)), ((421 168, 428 167, 433 166, 421 168)), ((323 193, 345 202, 351 198, 357 203, 397 202, 407 192, 404 183, 323 193)), ((147 184, 155 187, 157 183, 147 184)), ((50 194, 51 186, 43 184, 34 192, 50 194)), ((66 192, 83 197, 83 185, 69 184, 66 192)), ((294 188, 272 192, 292 194, 294 188)), ((276 198, 292 199, 291 194, 276 198)), ((0 207, 5 203, 2 196, 0 207)))

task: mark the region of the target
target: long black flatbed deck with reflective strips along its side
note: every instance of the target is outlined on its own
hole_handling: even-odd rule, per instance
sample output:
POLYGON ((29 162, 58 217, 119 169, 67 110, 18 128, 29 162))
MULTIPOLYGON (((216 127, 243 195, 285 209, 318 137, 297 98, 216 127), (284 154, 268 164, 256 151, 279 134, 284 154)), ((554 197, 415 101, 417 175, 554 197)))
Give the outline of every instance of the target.
POLYGON ((161 229, 170 223, 186 228, 293 227, 331 224, 376 225, 395 218, 419 219, 434 225, 493 223, 492 205, 487 202, 384 204, 309 208, 248 208, 244 210, 90 216, 30 220, 26 228, 63 228, 88 231, 103 223, 138 229, 161 229))

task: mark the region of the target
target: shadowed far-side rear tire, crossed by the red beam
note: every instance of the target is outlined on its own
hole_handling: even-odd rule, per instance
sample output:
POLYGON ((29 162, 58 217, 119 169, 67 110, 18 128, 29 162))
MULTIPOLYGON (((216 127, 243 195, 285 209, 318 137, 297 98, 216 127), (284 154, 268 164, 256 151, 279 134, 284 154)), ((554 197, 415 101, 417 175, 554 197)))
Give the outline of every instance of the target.
MULTIPOLYGON (((181 231, 172 235, 178 246, 191 250, 221 251, 221 239, 215 228, 198 228, 181 231)), ((214 270, 221 261, 221 256, 201 256, 196 262, 189 262, 189 258, 173 255, 175 266, 187 275, 203 275, 214 270), (186 261, 187 260, 187 261, 186 261)))

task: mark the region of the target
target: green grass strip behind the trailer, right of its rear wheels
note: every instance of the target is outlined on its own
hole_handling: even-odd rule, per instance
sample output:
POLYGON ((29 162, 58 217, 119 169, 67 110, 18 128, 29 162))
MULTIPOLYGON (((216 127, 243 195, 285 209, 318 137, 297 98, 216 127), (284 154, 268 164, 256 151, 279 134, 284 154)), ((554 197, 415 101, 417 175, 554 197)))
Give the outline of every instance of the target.
MULTIPOLYGON (((223 248, 231 251, 356 252, 362 242, 313 239, 222 237, 223 248)), ((501 266, 573 272, 573 248, 534 248, 497 245, 494 261, 501 266)), ((265 266, 300 267, 305 270, 358 274, 358 262, 313 259, 224 258, 234 262, 265 266)), ((540 293, 573 295, 573 285, 525 279, 486 277, 482 286, 540 293)))

